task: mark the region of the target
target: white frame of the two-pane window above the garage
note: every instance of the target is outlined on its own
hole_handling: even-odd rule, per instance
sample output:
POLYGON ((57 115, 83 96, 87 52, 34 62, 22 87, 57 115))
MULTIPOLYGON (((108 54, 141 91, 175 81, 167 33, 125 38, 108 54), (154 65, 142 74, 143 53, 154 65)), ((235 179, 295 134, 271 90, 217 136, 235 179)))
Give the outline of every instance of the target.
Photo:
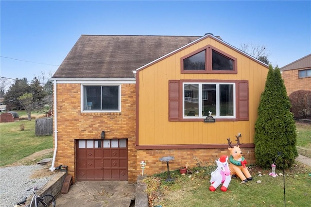
MULTIPOLYGON (((101 100, 102 102, 102 100, 101 100)), ((102 104, 102 103, 101 103, 102 104)), ((81 84, 81 112, 94 113, 94 112, 121 112, 121 84, 81 84), (118 110, 85 110, 84 109, 84 87, 85 86, 119 86, 119 109, 118 110)))

